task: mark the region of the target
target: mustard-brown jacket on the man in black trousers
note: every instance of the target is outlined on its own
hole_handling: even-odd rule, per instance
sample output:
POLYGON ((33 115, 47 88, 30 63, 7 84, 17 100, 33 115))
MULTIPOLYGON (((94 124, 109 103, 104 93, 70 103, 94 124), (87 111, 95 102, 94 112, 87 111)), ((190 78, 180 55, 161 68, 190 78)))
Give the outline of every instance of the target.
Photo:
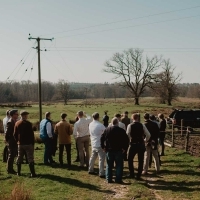
POLYGON ((55 134, 58 134, 59 144, 71 144, 72 127, 66 122, 61 120, 55 125, 55 134))

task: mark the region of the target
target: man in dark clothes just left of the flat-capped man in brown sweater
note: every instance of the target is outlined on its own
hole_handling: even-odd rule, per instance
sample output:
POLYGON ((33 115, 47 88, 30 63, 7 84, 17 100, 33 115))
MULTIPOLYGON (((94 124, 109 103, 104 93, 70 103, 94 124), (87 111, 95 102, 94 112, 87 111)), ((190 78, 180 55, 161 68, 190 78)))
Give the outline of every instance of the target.
POLYGON ((8 160, 7 160, 7 172, 9 174, 16 174, 16 171, 13 169, 14 158, 17 155, 17 143, 14 139, 14 126, 18 119, 18 110, 10 111, 10 119, 7 123, 5 141, 8 145, 8 160))

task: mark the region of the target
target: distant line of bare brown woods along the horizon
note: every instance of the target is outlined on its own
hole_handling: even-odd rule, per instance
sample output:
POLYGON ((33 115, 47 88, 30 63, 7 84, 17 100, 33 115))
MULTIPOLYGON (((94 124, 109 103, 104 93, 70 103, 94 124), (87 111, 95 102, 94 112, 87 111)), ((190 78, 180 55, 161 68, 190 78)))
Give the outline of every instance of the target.
MULTIPOLYGON (((199 83, 177 84, 176 93, 180 97, 200 98, 199 83)), ((161 103, 163 99, 157 92, 146 88, 141 97, 157 97, 161 103)), ((68 83, 59 80, 57 83, 42 81, 42 101, 64 101, 70 99, 92 99, 92 98, 131 98, 132 95, 127 88, 121 87, 121 83, 68 83)), ((21 103, 38 101, 38 84, 31 81, 13 81, 12 83, 0 82, 0 103, 21 103)))

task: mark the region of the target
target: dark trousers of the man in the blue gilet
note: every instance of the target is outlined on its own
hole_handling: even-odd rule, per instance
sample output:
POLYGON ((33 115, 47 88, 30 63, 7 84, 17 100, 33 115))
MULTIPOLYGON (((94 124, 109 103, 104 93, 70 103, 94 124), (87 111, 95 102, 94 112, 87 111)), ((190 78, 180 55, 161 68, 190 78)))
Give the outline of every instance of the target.
POLYGON ((44 149, 44 163, 52 163, 53 158, 52 158, 52 151, 53 151, 53 139, 47 138, 44 141, 45 149, 44 149))

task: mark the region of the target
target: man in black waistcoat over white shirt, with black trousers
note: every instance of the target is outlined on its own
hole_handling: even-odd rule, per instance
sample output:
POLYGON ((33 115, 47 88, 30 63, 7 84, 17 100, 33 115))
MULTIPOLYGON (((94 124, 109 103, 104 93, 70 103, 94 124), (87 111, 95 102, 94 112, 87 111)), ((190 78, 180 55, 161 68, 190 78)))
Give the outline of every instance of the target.
POLYGON ((127 127, 127 134, 129 136, 130 148, 128 154, 128 166, 130 172, 130 178, 135 178, 133 160, 135 155, 138 156, 138 173, 136 179, 140 179, 143 162, 144 162, 144 136, 146 135, 146 140, 149 140, 150 133, 147 128, 139 122, 139 115, 137 113, 132 115, 133 122, 127 127))

